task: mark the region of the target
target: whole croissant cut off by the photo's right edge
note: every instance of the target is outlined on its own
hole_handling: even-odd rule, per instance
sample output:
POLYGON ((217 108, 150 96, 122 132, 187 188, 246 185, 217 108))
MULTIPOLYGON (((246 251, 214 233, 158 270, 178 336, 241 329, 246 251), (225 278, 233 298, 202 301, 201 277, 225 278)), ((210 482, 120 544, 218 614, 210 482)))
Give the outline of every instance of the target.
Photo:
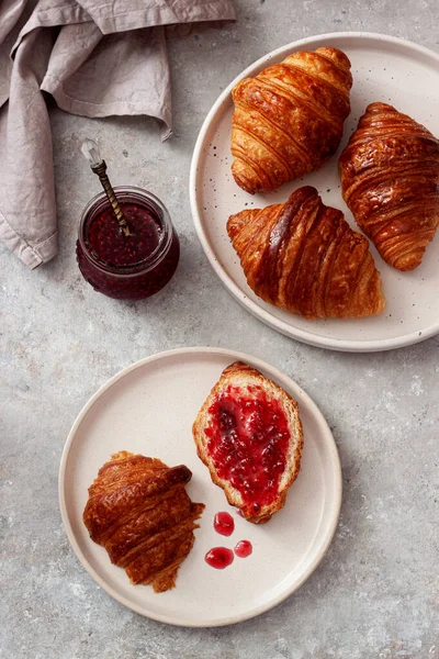
POLYGON ((417 268, 439 224, 439 141, 392 105, 372 103, 339 166, 344 199, 383 259, 417 268))

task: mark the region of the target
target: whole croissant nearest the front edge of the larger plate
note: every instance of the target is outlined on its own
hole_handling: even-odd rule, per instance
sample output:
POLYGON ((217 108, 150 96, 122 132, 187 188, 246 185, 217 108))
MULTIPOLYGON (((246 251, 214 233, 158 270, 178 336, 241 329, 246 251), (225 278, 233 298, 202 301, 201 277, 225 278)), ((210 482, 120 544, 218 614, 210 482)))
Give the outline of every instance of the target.
POLYGON ((315 188, 232 215, 227 233, 248 286, 266 302, 306 319, 356 319, 385 306, 368 241, 315 188))

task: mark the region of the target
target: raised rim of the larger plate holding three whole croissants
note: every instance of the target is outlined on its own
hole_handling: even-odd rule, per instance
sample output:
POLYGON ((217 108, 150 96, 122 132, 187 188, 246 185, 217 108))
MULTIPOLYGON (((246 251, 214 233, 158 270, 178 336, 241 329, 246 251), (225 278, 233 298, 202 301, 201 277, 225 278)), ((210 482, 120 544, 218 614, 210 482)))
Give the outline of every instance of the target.
POLYGON ((189 199, 191 205, 192 221, 195 226, 195 232, 201 243, 201 246, 203 247, 204 254, 206 255, 212 268, 219 277, 223 286, 248 312, 250 312, 254 316, 256 316, 259 321, 263 322, 272 330, 275 330, 281 334, 289 336, 290 338, 294 338, 296 340, 315 347, 346 353, 376 353, 414 345, 428 338, 431 338, 432 336, 436 336, 437 334, 439 334, 439 320, 426 328, 409 332, 408 334, 403 334, 397 337, 382 339, 375 338, 368 340, 331 338, 318 334, 315 335, 306 330, 289 325, 281 319, 278 319, 274 315, 272 315, 269 311, 260 306, 258 303, 254 302, 254 300, 251 300, 244 290, 240 290, 240 288, 224 270, 219 261, 216 259, 214 250, 211 247, 210 242, 207 241, 207 237, 204 233, 203 223, 201 221, 202 213, 199 210, 201 204, 199 203, 196 196, 198 165, 202 154, 202 148, 206 133, 211 127, 212 120, 221 111, 222 105, 228 99, 235 85, 237 85, 246 76, 254 75, 255 69, 266 64, 269 59, 272 59, 273 57, 286 55, 286 53, 291 52, 292 49, 311 45, 317 41, 336 38, 341 41, 359 40, 360 42, 378 41, 387 44, 394 44, 405 49, 408 49, 409 52, 417 52, 418 54, 423 54, 429 59, 432 58, 439 65, 439 53, 436 53, 430 48, 427 48, 405 38, 375 32, 328 32, 323 34, 316 34, 313 36, 307 36, 305 38, 297 40, 295 42, 291 42, 289 44, 275 48, 274 51, 271 51, 270 53, 267 53, 266 55, 262 55, 262 57, 259 57, 247 68, 245 68, 244 71, 238 74, 238 76, 236 76, 234 80, 232 80, 232 82, 218 96, 211 110, 207 112, 207 115, 204 119, 203 124, 200 129, 195 146, 193 148, 189 175, 189 199))

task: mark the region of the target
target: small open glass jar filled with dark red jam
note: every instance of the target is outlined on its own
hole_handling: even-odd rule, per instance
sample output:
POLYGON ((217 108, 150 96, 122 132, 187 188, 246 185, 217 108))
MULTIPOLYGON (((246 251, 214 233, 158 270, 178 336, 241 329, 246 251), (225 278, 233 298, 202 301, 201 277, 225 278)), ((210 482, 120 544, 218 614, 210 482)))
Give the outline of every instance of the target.
POLYGON ((140 188, 114 188, 130 235, 125 235, 104 192, 85 208, 77 260, 95 291, 123 300, 149 298, 176 271, 180 244, 161 201, 140 188))

